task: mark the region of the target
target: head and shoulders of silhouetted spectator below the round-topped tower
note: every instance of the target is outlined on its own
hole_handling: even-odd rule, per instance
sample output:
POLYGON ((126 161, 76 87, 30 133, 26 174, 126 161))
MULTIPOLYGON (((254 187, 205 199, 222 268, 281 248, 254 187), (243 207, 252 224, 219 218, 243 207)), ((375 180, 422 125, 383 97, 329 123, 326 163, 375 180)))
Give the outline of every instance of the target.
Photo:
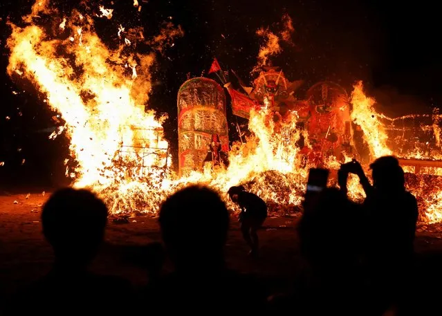
POLYGON ((200 186, 176 192, 161 206, 159 223, 175 266, 151 297, 161 313, 262 312, 257 282, 225 267, 229 214, 216 192, 200 186))

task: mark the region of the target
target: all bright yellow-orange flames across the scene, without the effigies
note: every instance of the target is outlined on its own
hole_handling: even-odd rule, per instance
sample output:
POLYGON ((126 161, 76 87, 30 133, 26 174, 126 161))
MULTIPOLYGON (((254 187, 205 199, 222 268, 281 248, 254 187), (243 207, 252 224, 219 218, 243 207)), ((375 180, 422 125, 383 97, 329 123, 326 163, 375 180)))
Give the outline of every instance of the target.
MULTIPOLYGON (((138 7, 138 1, 133 6, 138 7)), ((132 46, 143 40, 162 52, 164 45, 170 45, 183 31, 167 24, 158 36, 144 39, 140 30, 129 31, 120 25, 115 30, 120 45, 113 50, 102 42, 93 26, 94 19, 112 19, 112 15, 113 10, 100 6, 94 15, 74 10, 62 17, 50 8, 48 0, 37 0, 30 15, 24 17, 24 26, 10 25, 8 74, 33 82, 44 94, 44 102, 62 116, 65 124, 50 138, 66 133, 70 140, 66 175, 73 178, 73 185, 98 192, 114 213, 131 210, 155 214, 165 196, 189 183, 205 183, 219 192, 243 183, 279 207, 300 205, 309 166, 300 167, 300 149, 293 145, 300 138, 296 112, 288 122, 276 126, 268 120, 268 109, 252 111, 248 126, 252 136, 232 145, 227 169, 195 171, 183 178, 168 171, 171 160, 163 138, 163 118, 145 111, 155 54, 136 53, 132 46), (45 15, 53 21, 50 26, 35 23, 45 15)), ((283 21, 284 30, 279 36, 288 41, 293 26, 289 17, 283 21)), ((257 34, 267 39, 259 53, 259 63, 265 64, 270 55, 279 53, 279 37, 264 28, 257 34)), ((394 154, 388 145, 385 120, 396 119, 377 113, 374 104, 358 82, 351 93, 351 120, 362 129, 371 156, 394 154)), ((432 128, 439 146, 439 115, 433 116, 432 128)), ((304 138, 308 144, 308 135, 304 138)), ((401 156, 435 160, 441 153, 425 156, 421 151, 409 151, 401 156)), ((331 169, 337 169, 339 163, 337 159, 326 160, 331 169)), ((349 185, 352 198, 363 197, 357 178, 352 177, 349 185)), ((415 176, 409 189, 423 196, 425 180, 415 176)), ((424 221, 442 220, 441 198, 442 186, 433 187, 421 198, 424 221)))

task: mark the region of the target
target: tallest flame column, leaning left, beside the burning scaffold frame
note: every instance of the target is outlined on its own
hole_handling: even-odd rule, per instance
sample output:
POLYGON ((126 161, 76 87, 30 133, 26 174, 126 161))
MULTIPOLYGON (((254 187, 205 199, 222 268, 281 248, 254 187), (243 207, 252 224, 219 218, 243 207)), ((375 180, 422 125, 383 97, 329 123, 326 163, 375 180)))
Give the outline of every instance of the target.
MULTIPOLYGON (((100 7, 100 11, 111 18, 112 10, 100 7)), ((47 1, 40 1, 31 15, 48 12, 54 10, 47 1)), ((25 21, 32 21, 31 15, 25 21)), ((126 53, 122 47, 110 50, 93 31, 93 19, 75 10, 60 21, 60 36, 37 25, 19 28, 11 24, 8 74, 22 73, 45 93, 52 109, 62 114, 71 156, 77 162, 75 185, 109 185, 116 180, 109 168, 115 167, 113 158, 122 142, 148 147, 154 140, 156 147, 167 149, 167 142, 154 135, 144 135, 142 143, 136 144, 133 130, 133 126, 161 129, 154 113, 144 111, 154 55, 126 53), (127 64, 130 66, 125 67, 127 64)), ((134 154, 125 158, 134 158, 134 154)))

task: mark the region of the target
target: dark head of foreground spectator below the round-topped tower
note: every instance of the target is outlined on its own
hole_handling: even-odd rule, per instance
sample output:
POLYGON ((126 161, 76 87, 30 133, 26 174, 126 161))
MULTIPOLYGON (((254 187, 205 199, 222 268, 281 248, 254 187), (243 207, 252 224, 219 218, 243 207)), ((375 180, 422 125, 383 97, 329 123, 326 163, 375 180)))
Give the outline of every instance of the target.
POLYGON ((181 189, 161 205, 163 241, 176 268, 210 268, 223 263, 229 214, 208 187, 181 189))

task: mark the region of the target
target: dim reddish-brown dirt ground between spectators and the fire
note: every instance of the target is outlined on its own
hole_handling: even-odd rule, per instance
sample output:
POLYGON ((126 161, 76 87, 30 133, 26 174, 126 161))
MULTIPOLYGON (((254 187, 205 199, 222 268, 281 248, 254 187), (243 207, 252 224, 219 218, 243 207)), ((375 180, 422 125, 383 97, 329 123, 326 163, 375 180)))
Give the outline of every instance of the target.
MULTIPOLYGON (((53 254, 44 240, 40 223, 42 203, 48 194, 14 194, 0 196, 0 295, 8 297, 17 288, 41 277, 50 268, 53 254)), ((299 216, 269 217, 259 232, 261 257, 246 256, 246 244, 239 225, 232 218, 226 247, 228 266, 271 280, 274 290, 287 288, 302 270, 295 225, 299 216)), ((192 216, 192 214, 190 214, 192 216)), ((72 221, 82 221, 72 214, 72 221)), ((416 251, 421 254, 442 250, 442 230, 438 225, 419 225, 416 251)), ((93 270, 125 277, 134 286, 147 281, 140 247, 160 241, 157 220, 136 216, 129 223, 109 222, 104 245, 93 263, 93 270), (130 250, 130 251, 128 251, 130 250), (130 254, 130 255, 128 255, 130 254)), ((166 270, 169 265, 166 265, 166 270)))

